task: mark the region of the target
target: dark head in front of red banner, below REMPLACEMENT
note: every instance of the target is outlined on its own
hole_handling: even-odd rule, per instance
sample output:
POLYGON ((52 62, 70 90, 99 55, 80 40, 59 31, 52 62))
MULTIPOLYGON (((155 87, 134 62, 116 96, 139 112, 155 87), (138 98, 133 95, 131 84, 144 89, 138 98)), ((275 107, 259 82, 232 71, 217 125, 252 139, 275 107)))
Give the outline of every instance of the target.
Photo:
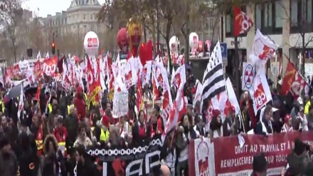
POLYGON ((266 176, 268 162, 264 153, 255 155, 252 162, 253 172, 250 176, 266 176))

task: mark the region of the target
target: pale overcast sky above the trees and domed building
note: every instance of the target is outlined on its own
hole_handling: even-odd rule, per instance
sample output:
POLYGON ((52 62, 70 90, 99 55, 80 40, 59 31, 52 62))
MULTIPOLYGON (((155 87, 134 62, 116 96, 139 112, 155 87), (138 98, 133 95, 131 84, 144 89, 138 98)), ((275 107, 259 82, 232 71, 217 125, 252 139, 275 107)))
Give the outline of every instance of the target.
MULTIPOLYGON (((28 0, 23 4, 23 8, 29 9, 39 16, 46 17, 48 14, 54 15, 56 12, 66 11, 71 1, 72 0, 28 0)), ((105 0, 98 1, 102 5, 105 0)))

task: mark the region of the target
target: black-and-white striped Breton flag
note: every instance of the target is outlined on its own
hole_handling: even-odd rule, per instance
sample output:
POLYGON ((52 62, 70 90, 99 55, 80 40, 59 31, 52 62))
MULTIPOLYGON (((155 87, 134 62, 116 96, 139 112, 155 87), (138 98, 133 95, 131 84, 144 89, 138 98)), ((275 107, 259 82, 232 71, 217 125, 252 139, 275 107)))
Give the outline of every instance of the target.
MULTIPOLYGON (((211 56, 208 60, 208 66, 203 75, 202 105, 207 108, 209 100, 214 96, 226 91, 224 81, 223 61, 220 42, 216 43, 211 56)), ((201 105, 201 106, 202 106, 201 105)), ((201 107, 202 108, 202 107, 201 107)))

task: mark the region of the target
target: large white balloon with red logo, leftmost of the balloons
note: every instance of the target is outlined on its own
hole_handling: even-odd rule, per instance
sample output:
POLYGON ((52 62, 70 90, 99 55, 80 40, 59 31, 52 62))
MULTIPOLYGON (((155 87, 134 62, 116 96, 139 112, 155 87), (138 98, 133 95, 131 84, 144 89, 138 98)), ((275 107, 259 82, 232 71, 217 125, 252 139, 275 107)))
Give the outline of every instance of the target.
POLYGON ((84 48, 85 53, 90 58, 95 58, 95 55, 98 53, 99 49, 99 38, 94 31, 89 31, 86 33, 84 38, 84 48))

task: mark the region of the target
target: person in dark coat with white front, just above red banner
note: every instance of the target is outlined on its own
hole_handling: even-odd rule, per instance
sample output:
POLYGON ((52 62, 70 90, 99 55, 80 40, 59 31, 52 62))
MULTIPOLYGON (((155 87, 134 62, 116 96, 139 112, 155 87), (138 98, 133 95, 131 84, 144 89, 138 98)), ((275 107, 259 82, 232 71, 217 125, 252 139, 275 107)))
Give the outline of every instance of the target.
POLYGON ((256 135, 269 135, 274 133, 272 129, 272 107, 267 105, 264 109, 264 113, 262 117, 260 117, 260 121, 258 122, 257 126, 255 127, 255 134, 256 135))

